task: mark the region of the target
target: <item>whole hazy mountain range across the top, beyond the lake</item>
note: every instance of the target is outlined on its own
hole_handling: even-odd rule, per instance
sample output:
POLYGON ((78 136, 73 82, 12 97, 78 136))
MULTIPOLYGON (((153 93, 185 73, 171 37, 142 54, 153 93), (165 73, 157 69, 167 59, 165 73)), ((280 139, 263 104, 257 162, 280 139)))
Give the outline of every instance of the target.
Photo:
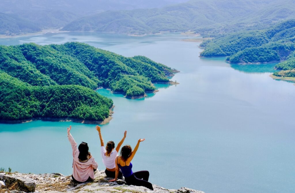
POLYGON ((6 19, 2 21, 2 14, 0 33, 21 34, 63 27, 68 31, 127 34, 191 30, 204 36, 216 36, 241 29, 263 29, 279 21, 295 19, 292 0, 183 1, 4 0, 0 3, 0 12, 5 12, 6 19), (23 20, 24 25, 12 22, 11 27, 7 26, 7 21, 13 21, 7 19, 12 14, 19 21, 23 20))

